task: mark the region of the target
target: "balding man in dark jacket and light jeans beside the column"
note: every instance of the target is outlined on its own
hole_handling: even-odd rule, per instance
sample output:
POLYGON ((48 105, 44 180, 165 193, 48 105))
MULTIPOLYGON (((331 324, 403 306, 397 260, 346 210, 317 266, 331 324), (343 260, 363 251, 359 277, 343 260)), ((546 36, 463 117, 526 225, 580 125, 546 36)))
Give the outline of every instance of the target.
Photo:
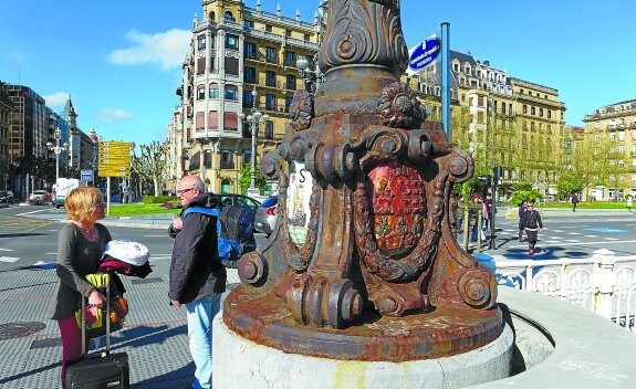
MULTIPOLYGON (((218 201, 212 193, 204 193, 204 182, 197 176, 186 176, 177 183, 177 197, 184 210, 215 208, 218 201)), ((190 353, 196 366, 192 388, 211 387, 211 323, 226 291, 226 269, 215 255, 216 225, 216 218, 192 212, 175 219, 168 229, 175 238, 168 296, 174 306, 185 305, 187 309, 190 353)))

